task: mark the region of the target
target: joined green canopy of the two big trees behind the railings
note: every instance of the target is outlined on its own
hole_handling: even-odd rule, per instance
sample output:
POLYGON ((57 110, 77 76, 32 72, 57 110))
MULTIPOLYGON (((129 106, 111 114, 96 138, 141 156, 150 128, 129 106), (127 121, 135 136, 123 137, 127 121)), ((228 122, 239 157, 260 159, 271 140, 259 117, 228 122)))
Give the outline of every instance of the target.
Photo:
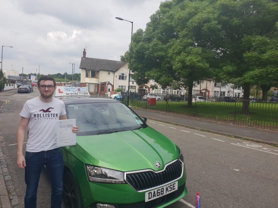
MULTIPOLYGON (((251 72, 258 70, 248 57, 256 46, 250 43, 260 36, 273 45, 277 14, 276 1, 166 1, 146 30, 134 33, 122 60, 139 85, 152 79, 162 88, 188 87, 192 95, 194 82, 211 78, 244 87, 248 99, 250 85, 256 84, 251 72)), ((244 103, 243 112, 248 107, 244 103)))

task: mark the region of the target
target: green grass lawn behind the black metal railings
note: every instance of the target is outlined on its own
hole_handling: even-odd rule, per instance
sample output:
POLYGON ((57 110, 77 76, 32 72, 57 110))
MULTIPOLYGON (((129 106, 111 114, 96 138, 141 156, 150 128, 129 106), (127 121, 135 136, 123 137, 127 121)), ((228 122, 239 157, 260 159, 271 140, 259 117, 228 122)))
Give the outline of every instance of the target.
MULTIPOLYGON (((123 100, 126 103, 126 99, 123 100)), ((196 102, 187 107, 187 102, 156 102, 150 106, 146 101, 130 100, 136 108, 152 109, 177 115, 233 123, 257 128, 278 130, 278 103, 250 102, 249 114, 242 114, 243 102, 196 102)))

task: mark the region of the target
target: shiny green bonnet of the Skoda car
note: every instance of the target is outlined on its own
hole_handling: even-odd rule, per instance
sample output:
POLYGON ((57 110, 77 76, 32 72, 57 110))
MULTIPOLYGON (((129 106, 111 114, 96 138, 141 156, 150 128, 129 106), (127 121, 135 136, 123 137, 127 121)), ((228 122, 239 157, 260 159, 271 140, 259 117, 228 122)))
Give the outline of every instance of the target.
POLYGON ((166 136, 146 127, 109 134, 77 136, 74 146, 92 165, 119 171, 162 170, 179 150, 166 136), (155 166, 156 162, 161 167, 155 166))

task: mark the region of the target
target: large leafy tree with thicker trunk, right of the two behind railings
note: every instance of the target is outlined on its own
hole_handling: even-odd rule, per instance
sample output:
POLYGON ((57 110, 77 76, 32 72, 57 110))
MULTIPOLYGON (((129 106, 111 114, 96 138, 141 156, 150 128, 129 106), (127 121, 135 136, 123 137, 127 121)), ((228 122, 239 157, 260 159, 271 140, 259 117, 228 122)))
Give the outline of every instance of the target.
MULTIPOLYGON (((266 0, 211 0, 206 4, 204 11, 187 23, 187 33, 194 37, 198 46, 217 52, 219 66, 214 71, 215 78, 244 87, 243 98, 248 100, 250 85, 256 83, 246 76, 254 67, 244 58, 251 50, 244 39, 273 35, 278 4, 266 0)), ((249 113, 249 101, 243 102, 242 112, 249 113)))

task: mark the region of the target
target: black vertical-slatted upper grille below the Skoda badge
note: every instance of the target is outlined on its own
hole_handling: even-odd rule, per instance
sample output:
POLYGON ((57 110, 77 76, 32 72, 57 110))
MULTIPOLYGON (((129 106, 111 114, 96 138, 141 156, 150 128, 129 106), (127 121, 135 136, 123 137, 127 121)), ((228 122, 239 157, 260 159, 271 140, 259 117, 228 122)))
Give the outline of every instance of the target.
POLYGON ((182 174, 182 163, 176 162, 168 165, 162 172, 152 171, 126 174, 126 181, 136 191, 151 189, 179 178, 182 174))

